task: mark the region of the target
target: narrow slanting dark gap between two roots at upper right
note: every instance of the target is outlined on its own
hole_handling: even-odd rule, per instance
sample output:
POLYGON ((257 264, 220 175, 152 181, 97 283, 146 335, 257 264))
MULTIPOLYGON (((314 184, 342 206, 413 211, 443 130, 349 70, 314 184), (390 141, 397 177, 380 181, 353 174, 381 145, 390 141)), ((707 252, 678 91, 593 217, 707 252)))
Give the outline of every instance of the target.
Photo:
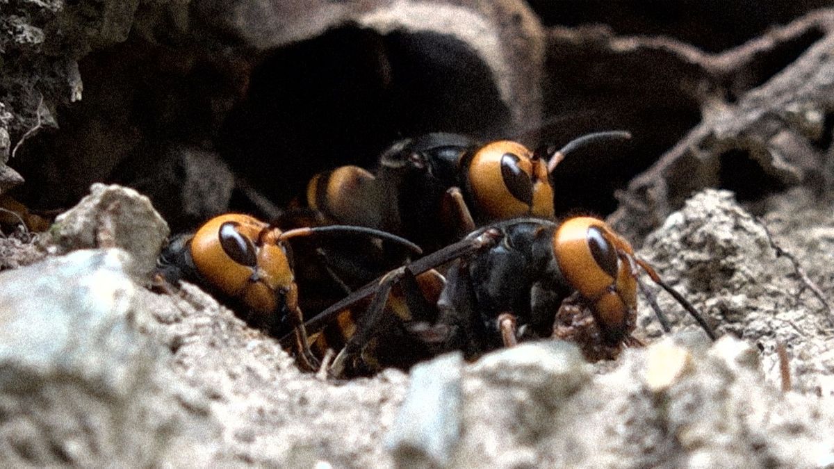
POLYGON ((748 90, 766 83, 805 53, 816 41, 824 37, 825 33, 821 29, 809 29, 796 38, 791 38, 768 49, 766 53, 759 54, 747 63, 743 73, 731 78, 732 83, 726 93, 727 101, 735 103, 748 90))

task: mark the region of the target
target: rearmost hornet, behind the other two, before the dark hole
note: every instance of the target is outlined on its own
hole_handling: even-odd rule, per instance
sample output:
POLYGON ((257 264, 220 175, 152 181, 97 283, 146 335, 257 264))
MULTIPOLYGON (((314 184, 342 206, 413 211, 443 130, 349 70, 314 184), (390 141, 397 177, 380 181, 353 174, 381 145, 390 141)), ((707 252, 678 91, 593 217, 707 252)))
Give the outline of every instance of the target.
POLYGON ((425 134, 386 149, 376 174, 342 166, 314 175, 304 199, 324 223, 382 229, 430 252, 501 219, 552 219, 556 165, 588 144, 629 138, 599 132, 558 150, 531 151, 511 140, 479 144, 460 134, 425 134))

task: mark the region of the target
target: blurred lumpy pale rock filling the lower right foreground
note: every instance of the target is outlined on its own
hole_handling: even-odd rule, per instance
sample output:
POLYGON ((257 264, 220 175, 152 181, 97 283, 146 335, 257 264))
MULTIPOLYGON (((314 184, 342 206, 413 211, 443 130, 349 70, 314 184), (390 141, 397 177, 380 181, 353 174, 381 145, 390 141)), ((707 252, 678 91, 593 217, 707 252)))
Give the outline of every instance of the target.
POLYGON ((831 451, 834 440, 823 430, 831 414, 809 418, 824 401, 806 399, 797 408, 766 383, 750 345, 726 336, 707 353, 671 340, 640 352, 584 390, 590 394, 580 401, 594 402, 595 412, 580 401, 570 406, 572 420, 585 427, 580 435, 597 441, 577 451, 589 456, 580 466, 808 467, 831 451), (656 386, 658 371, 665 386, 656 386), (806 451, 788 455, 781 438, 762 436, 781 433, 780 421, 795 412, 796 441, 806 451))

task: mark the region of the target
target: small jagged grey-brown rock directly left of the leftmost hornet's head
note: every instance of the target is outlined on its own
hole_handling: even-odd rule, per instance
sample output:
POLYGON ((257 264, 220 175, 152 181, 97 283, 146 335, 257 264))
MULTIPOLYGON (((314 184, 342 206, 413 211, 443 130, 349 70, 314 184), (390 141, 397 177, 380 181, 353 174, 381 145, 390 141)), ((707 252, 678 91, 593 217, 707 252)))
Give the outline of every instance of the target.
POLYGON ((147 197, 118 185, 93 184, 91 194, 58 215, 44 240, 54 254, 96 247, 118 247, 135 261, 137 275, 149 275, 168 224, 153 209, 147 197))

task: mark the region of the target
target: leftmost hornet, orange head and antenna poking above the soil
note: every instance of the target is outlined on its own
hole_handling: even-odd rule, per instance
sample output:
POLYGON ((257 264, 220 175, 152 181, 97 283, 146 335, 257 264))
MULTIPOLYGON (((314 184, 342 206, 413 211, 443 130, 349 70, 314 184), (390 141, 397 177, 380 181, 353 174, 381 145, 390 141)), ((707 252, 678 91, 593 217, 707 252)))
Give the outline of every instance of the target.
POLYGON ((314 366, 289 242, 323 234, 369 236, 421 252, 408 240, 377 229, 331 225, 282 231, 249 215, 222 214, 193 234, 173 238, 159 255, 158 273, 172 285, 182 279, 202 286, 249 325, 272 335, 293 330, 299 360, 314 366))

